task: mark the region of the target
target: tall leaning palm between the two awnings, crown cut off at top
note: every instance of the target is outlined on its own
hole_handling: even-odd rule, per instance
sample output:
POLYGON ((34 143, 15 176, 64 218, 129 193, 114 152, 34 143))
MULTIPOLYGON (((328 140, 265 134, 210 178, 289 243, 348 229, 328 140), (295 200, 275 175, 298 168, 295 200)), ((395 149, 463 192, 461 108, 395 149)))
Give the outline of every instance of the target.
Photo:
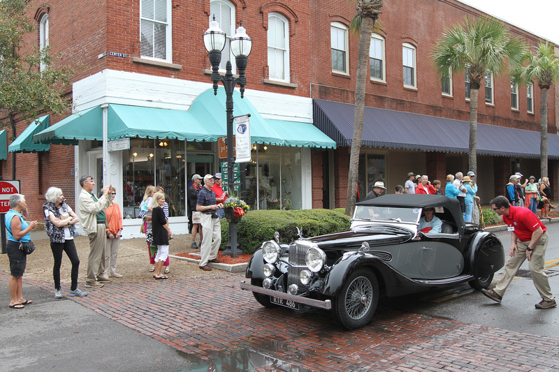
POLYGON ((359 30, 359 52, 357 55, 357 77, 355 87, 355 116, 354 137, 351 141, 349 155, 349 187, 345 202, 345 214, 353 215, 355 197, 357 195, 357 173, 359 167, 359 152, 361 151, 361 136, 363 135, 363 120, 365 115, 365 87, 369 77, 369 48, 372 31, 379 18, 382 0, 357 0, 357 14, 351 21, 351 28, 359 30))

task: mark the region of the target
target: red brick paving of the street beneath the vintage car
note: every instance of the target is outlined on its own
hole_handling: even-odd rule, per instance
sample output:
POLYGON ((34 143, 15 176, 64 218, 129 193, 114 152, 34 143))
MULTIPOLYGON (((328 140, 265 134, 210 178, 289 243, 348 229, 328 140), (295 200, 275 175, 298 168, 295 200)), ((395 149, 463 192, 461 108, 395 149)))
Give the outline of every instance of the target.
POLYGON ((241 279, 219 274, 110 283, 70 298, 201 359, 254 348, 310 371, 559 370, 557 338, 383 308, 370 325, 349 332, 326 311, 263 308, 240 290, 241 279))

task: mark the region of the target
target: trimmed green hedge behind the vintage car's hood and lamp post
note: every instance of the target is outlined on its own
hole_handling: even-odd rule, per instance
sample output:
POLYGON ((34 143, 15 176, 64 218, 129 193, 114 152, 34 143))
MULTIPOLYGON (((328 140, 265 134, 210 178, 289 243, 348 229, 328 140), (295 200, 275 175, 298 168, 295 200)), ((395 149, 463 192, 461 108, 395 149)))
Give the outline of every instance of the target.
MULTIPOLYGON (((261 210, 248 211, 237 225, 239 248, 252 254, 263 241, 274 239, 274 232, 284 243, 297 239, 297 228, 303 228, 304 237, 331 234, 349 229, 349 217, 331 209, 261 210)), ((222 246, 228 241, 228 222, 222 219, 222 246)))

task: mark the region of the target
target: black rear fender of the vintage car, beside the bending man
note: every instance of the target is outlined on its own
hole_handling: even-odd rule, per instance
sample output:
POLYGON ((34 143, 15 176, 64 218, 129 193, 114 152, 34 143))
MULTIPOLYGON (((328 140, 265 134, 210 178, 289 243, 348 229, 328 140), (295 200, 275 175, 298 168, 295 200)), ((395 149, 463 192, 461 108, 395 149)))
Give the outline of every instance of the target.
POLYGON ((501 241, 491 232, 477 232, 470 244, 469 254, 470 272, 476 278, 494 274, 504 265, 501 241))

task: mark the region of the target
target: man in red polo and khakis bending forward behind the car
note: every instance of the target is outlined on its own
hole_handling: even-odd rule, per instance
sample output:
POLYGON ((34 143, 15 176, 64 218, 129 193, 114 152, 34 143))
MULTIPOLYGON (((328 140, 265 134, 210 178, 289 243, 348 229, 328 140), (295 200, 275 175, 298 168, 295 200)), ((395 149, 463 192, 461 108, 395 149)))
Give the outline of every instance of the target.
POLYGON ((509 226, 511 247, 509 248, 509 260, 504 265, 501 280, 495 285, 495 289, 481 290, 481 292, 500 304, 504 292, 516 275, 516 271, 528 258, 532 281, 539 295, 542 296, 542 302, 536 304, 536 308, 556 307, 555 297, 551 293, 549 280, 544 272, 547 241, 549 239, 547 228, 530 209, 512 207, 509 200, 504 196, 498 196, 491 200, 491 204, 495 213, 502 216, 504 223, 509 226))

